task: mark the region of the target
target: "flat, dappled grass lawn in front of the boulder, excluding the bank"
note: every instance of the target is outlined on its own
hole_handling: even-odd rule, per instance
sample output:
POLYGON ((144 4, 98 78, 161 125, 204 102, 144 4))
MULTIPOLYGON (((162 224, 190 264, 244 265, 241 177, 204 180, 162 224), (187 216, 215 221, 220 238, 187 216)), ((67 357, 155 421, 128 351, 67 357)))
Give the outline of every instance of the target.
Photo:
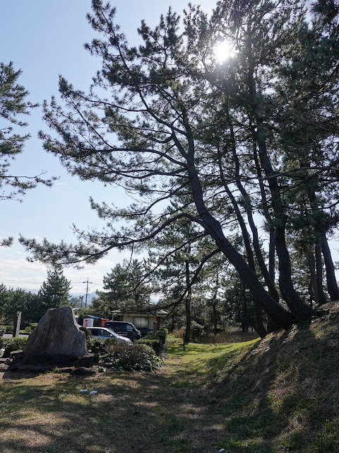
POLYGON ((156 372, 3 374, 0 452, 218 452, 222 415, 202 384, 215 361, 246 343, 191 343, 185 352, 168 343, 156 372))

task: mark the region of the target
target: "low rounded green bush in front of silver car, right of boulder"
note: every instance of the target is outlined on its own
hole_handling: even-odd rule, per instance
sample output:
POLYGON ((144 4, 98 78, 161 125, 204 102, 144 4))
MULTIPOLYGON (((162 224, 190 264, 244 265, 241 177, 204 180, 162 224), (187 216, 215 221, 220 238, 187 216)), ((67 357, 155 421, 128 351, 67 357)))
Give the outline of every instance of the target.
POLYGON ((106 362, 111 362, 114 369, 125 371, 152 371, 162 365, 162 360, 157 357, 154 350, 140 343, 134 345, 115 343, 109 346, 107 354, 102 358, 106 362))

